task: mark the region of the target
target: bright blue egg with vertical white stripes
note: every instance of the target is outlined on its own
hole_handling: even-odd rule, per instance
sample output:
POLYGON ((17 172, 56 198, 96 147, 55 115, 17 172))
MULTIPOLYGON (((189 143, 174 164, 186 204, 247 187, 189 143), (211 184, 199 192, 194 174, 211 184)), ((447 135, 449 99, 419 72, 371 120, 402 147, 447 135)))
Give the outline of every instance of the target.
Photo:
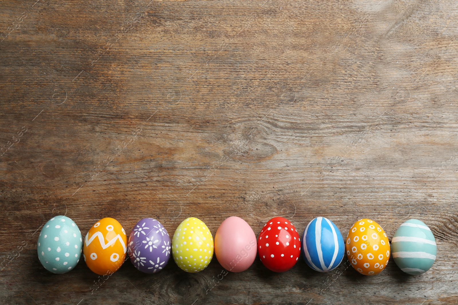
POLYGON ((344 238, 331 220, 316 217, 309 222, 302 235, 302 256, 310 268, 331 271, 342 262, 344 254, 344 238))

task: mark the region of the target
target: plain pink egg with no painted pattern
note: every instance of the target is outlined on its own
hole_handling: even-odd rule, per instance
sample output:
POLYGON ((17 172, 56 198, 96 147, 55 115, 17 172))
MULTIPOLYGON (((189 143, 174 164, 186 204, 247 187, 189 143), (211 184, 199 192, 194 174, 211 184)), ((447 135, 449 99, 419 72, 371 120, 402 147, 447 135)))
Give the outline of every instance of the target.
POLYGON ((215 255, 224 269, 242 272, 256 258, 256 235, 245 220, 237 216, 225 219, 215 235, 215 255))

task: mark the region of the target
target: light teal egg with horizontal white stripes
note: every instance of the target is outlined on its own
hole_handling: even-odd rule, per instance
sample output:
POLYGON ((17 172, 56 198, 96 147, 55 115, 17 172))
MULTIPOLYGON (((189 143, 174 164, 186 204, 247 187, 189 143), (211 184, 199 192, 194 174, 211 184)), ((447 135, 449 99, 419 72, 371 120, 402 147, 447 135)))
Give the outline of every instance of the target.
POLYGON ((391 254, 405 273, 417 275, 428 271, 436 261, 436 239, 430 228, 418 219, 399 226, 391 241, 391 254))

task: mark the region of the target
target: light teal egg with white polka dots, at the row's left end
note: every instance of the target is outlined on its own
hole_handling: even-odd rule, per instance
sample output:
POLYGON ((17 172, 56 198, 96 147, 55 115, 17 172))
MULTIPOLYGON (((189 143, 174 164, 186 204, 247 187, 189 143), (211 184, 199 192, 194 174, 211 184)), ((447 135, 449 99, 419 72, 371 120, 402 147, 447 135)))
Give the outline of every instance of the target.
POLYGON ((44 224, 38 236, 38 258, 46 270, 66 273, 80 261, 82 238, 78 226, 66 216, 56 216, 44 224))

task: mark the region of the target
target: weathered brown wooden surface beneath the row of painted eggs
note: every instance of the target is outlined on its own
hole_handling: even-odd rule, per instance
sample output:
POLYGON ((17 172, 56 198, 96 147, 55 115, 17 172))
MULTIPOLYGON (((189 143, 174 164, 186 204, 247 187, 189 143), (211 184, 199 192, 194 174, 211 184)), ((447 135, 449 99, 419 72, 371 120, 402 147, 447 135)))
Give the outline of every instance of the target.
POLYGON ((0 303, 458 303, 454 1, 35 1, 0 4, 0 303), (257 235, 325 216, 344 236, 371 218, 390 240, 417 218, 438 255, 421 276, 256 259, 215 282, 213 258, 100 280, 40 265, 59 214, 83 236, 103 217, 214 235, 237 215, 257 235))

